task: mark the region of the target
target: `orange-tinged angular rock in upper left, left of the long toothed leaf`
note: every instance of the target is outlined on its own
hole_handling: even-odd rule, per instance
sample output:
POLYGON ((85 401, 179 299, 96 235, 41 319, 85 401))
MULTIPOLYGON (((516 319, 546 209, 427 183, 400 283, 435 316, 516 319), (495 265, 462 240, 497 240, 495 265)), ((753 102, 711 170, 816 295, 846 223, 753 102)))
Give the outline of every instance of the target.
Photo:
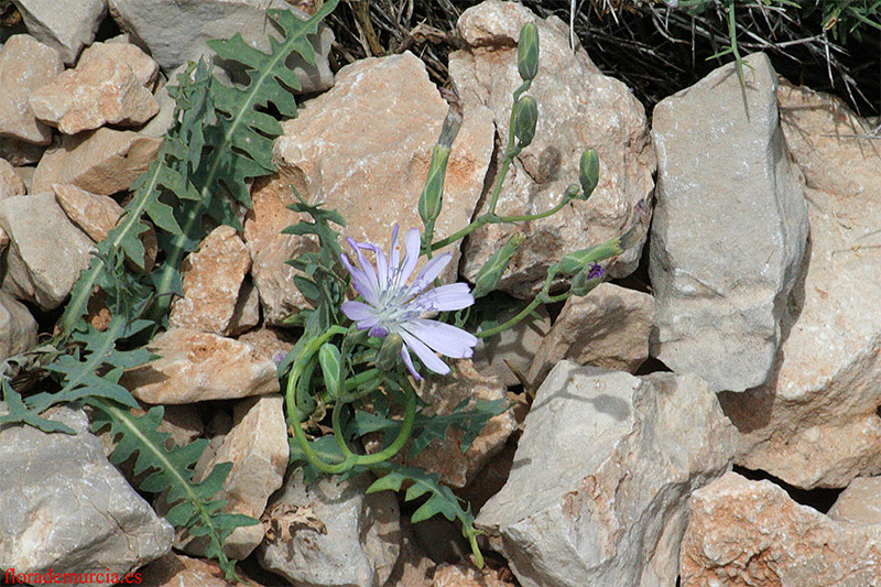
POLYGON ((65 134, 108 123, 132 127, 150 120, 159 112, 159 106, 119 57, 108 52, 93 53, 76 68, 37 88, 30 98, 34 116, 65 134))

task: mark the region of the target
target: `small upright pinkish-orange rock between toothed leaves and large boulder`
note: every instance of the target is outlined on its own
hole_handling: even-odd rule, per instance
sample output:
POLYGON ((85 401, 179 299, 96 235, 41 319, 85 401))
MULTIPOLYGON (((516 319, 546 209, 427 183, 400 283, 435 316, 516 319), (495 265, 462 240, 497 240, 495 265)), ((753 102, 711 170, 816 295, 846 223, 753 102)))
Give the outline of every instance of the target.
POLYGON ((172 303, 168 325, 231 334, 242 281, 250 268, 251 258, 236 229, 215 228, 181 265, 184 296, 172 303))

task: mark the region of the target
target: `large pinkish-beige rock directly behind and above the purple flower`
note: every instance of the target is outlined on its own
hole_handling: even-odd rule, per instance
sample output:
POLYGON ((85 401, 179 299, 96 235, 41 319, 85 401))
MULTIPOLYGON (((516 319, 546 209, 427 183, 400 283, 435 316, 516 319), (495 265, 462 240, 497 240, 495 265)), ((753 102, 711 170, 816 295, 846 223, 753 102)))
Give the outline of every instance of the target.
MULTIPOLYGON (((303 105, 296 119, 282 124, 284 135, 275 142, 275 159, 278 177, 284 180, 278 181, 279 200, 271 208, 295 202, 286 187, 293 184, 307 200, 342 214, 345 237, 388 251, 395 224, 402 236, 411 227, 422 227, 418 198, 446 113, 447 104, 429 81, 425 65, 411 53, 344 67, 333 89, 303 105), (340 165, 340 161, 347 163, 340 165)), ((491 156, 490 113, 475 109, 466 113, 453 144, 436 239, 470 221, 491 156)), ((312 242, 278 236, 296 215, 272 215, 268 222, 261 222, 261 216, 267 214, 254 209, 244 239, 265 319, 278 324, 305 304, 293 283, 293 270, 282 263, 312 242)), ((449 281, 456 274, 458 243, 444 250, 454 256, 442 276, 449 281)))

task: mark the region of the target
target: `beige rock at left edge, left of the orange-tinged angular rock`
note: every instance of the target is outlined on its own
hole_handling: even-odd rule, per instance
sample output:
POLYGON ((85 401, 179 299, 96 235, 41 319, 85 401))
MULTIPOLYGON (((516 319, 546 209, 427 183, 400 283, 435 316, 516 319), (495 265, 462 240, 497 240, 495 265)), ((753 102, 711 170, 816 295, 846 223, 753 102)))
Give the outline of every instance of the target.
POLYGON ((28 98, 63 69, 58 52, 34 37, 17 34, 7 40, 0 52, 1 135, 37 144, 52 141, 52 129, 36 120, 28 98))

